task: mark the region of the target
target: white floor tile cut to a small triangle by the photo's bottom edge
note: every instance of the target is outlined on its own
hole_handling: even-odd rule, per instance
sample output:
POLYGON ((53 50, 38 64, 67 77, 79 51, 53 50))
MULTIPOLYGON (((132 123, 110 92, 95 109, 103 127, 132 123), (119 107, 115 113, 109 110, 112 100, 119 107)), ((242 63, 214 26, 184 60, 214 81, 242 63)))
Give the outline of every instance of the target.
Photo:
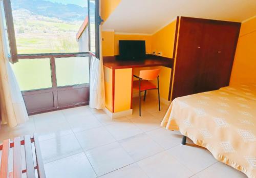
POLYGON ((148 178, 146 173, 135 163, 115 170, 100 178, 148 178))

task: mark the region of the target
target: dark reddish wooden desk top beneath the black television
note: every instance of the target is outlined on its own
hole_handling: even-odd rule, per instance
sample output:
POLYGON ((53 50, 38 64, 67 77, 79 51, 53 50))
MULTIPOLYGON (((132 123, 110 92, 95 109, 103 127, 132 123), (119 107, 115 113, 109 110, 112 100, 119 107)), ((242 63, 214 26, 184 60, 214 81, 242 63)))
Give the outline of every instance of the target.
POLYGON ((148 55, 145 59, 141 60, 120 60, 116 56, 105 56, 103 57, 103 65, 110 69, 143 68, 146 66, 166 66, 173 68, 174 59, 148 55))

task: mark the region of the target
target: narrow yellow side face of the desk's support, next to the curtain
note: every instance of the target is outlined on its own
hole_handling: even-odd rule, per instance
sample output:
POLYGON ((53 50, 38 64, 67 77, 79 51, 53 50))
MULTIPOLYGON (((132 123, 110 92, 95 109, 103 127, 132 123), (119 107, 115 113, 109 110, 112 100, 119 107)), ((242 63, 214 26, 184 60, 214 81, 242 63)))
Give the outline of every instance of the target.
POLYGON ((104 84, 105 84, 105 106, 111 112, 112 108, 112 69, 104 66, 104 84))

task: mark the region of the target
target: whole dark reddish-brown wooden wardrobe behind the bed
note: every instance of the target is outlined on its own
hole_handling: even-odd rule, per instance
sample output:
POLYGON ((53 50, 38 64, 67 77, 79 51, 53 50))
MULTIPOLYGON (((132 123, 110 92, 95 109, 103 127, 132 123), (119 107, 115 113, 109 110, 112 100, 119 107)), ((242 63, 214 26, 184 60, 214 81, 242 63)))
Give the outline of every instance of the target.
POLYGON ((229 85, 240 26, 231 21, 180 18, 172 100, 229 85))

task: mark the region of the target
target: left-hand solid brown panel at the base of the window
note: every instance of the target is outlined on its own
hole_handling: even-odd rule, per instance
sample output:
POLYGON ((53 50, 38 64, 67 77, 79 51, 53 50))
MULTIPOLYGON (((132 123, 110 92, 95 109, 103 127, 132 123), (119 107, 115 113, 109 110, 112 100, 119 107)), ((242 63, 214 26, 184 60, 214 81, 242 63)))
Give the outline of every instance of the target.
POLYGON ((53 92, 25 95, 23 98, 28 113, 54 107, 53 92))

